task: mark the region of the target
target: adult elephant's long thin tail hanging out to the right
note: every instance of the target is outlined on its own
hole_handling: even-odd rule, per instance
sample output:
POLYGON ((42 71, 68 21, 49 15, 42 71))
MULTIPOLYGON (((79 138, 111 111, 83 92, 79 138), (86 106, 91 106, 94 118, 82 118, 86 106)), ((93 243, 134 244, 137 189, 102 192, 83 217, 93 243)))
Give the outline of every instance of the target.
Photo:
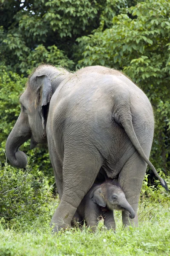
MULTIPOLYGON (((116 116, 117 117, 117 116, 116 116)), ((123 116, 122 116, 123 117, 123 116)), ((127 118, 121 118, 119 116, 119 118, 115 118, 115 121, 118 121, 117 123, 119 125, 121 125, 125 132, 127 133, 127 136, 130 138, 131 142, 133 143, 134 147, 136 148, 136 150, 138 151, 138 153, 140 154, 140 156, 144 159, 144 161, 150 166, 150 168, 153 170, 154 175, 160 180, 161 185, 167 190, 170 191, 167 187, 167 183, 164 179, 162 179, 159 175, 158 172, 156 171, 155 167, 153 166, 153 164, 150 162, 150 160, 147 158, 147 156, 145 155, 143 149, 141 148, 141 145, 138 141, 138 138, 135 134, 134 128, 133 128, 133 123, 132 123, 132 115, 129 112, 129 117, 127 118), (117 120, 116 120, 117 119, 117 120), (123 121, 124 120, 124 121, 123 121)))

